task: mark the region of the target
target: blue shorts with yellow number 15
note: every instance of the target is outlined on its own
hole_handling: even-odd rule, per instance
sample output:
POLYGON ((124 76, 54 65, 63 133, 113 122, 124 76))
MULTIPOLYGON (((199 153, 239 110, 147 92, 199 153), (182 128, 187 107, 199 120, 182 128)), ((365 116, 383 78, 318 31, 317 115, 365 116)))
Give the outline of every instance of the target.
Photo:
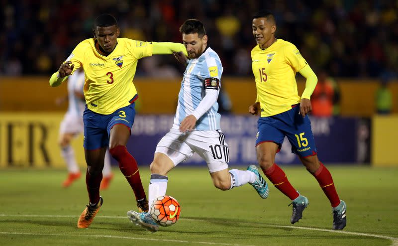
POLYGON ((256 146, 263 142, 275 142, 281 149, 285 136, 292 144, 292 152, 300 157, 316 154, 315 140, 308 116, 299 114, 299 105, 292 106, 289 111, 281 114, 260 117, 257 122, 256 146))

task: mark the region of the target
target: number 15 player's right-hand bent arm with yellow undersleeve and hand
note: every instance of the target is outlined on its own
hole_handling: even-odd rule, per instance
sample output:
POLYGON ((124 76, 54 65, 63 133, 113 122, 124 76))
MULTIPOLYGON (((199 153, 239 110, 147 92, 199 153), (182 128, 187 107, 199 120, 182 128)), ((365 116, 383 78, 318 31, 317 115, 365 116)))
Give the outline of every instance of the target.
POLYGON ((315 89, 316 83, 318 82, 318 78, 316 77, 312 69, 309 67, 309 65, 306 65, 298 72, 306 79, 305 89, 301 95, 301 101, 300 101, 300 114, 302 117, 304 117, 312 110, 310 97, 315 89))

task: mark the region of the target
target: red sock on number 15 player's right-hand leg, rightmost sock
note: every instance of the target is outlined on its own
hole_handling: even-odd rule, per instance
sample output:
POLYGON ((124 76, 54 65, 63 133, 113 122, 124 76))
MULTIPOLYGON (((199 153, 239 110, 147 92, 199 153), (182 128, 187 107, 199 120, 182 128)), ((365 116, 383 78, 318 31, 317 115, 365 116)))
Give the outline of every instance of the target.
POLYGON ((312 175, 314 175, 318 181, 332 207, 337 207, 340 204, 340 198, 339 195, 337 195, 336 188, 334 187, 332 175, 321 162, 319 162, 319 164, 320 166, 318 170, 316 170, 316 172, 312 175))

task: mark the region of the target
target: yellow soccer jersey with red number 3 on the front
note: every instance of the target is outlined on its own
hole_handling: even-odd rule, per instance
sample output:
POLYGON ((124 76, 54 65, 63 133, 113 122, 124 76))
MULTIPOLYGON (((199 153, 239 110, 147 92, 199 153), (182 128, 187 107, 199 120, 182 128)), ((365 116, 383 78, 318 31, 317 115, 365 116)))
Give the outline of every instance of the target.
POLYGON ((90 38, 78 44, 66 61, 75 64, 74 71, 83 67, 87 107, 109 115, 137 98, 133 84, 137 62, 151 55, 151 43, 118 38, 112 53, 103 56, 96 50, 95 39, 90 38))

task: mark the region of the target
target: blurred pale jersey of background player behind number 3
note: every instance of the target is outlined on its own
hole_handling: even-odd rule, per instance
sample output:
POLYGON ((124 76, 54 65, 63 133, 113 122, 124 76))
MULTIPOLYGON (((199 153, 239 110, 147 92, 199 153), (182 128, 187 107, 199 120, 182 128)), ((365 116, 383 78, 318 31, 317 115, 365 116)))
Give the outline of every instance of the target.
POLYGON ((86 103, 75 95, 75 93, 83 95, 83 87, 84 72, 76 70, 73 75, 68 77, 68 114, 83 116, 86 103))

